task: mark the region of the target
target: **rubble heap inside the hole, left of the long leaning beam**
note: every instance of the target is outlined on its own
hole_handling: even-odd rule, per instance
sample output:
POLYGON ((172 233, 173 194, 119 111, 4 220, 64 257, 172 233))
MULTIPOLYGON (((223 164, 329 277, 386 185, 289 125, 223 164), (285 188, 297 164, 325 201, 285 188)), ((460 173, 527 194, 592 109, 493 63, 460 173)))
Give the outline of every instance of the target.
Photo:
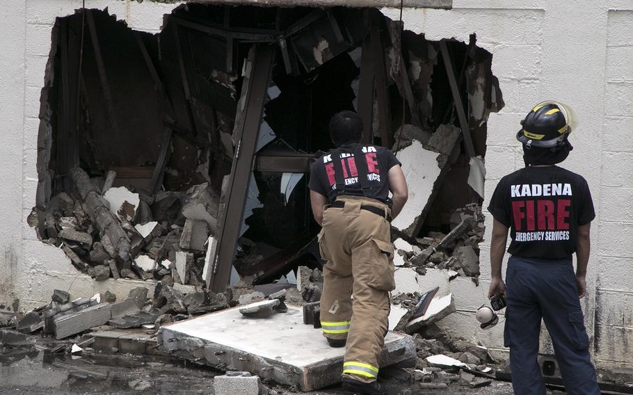
POLYGON ((202 286, 207 252, 218 233, 220 197, 205 182, 186 193, 134 193, 103 188, 104 180, 72 170, 74 193, 51 199, 43 220, 45 243, 64 250, 95 280, 173 278, 202 286), (104 193, 102 193, 104 191, 104 193))

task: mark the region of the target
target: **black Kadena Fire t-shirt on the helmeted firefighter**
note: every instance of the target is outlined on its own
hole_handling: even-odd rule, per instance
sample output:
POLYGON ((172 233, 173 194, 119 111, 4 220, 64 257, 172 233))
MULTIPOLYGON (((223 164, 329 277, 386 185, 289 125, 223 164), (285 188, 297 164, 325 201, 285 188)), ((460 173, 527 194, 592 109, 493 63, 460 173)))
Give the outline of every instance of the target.
POLYGON ((511 228, 511 255, 569 259, 578 226, 595 218, 586 180, 558 166, 530 166, 503 177, 488 211, 511 228))

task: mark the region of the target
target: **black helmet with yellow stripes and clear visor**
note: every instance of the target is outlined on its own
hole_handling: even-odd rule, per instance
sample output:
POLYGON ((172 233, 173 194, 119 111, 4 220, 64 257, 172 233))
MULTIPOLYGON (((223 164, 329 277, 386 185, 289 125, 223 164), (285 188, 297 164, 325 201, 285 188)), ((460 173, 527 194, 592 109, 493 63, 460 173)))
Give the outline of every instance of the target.
POLYGON ((517 140, 527 148, 550 148, 556 151, 577 124, 578 118, 573 108, 548 100, 534 106, 521 121, 522 129, 517 133, 517 140))

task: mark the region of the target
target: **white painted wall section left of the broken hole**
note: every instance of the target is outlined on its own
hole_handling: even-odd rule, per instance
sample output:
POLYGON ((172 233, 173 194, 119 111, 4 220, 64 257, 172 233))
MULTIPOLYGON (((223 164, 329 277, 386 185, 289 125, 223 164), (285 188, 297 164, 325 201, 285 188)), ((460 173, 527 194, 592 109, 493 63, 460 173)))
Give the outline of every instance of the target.
MULTIPOLYGON (((163 15, 178 6, 134 1, 86 3, 108 8, 132 29, 149 33, 158 33, 163 15)), ((10 305, 19 299, 20 309, 41 305, 53 289, 70 290, 73 296, 110 290, 124 297, 139 284, 131 280, 95 282, 79 273, 60 249, 42 244, 26 222, 38 188, 40 94, 51 51, 51 31, 56 17, 72 15, 80 7, 81 1, 21 0, 0 10, 2 26, 8 29, 0 37, 0 122, 4 136, 0 147, 0 304, 10 305)), ((153 285, 140 283, 150 288, 153 285)))

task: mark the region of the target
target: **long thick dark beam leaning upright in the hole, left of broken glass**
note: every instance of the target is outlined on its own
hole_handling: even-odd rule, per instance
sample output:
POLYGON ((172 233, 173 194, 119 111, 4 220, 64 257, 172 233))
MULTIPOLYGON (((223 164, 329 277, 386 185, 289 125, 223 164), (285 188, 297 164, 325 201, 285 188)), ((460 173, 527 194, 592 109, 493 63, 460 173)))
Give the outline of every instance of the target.
MULTIPOLYGON (((268 90, 275 51, 269 45, 255 45, 249 56, 251 71, 246 88, 243 122, 236 124, 237 147, 225 194, 225 209, 220 222, 220 232, 213 270, 209 271, 211 289, 224 291, 229 284, 235 253, 235 243, 239 238, 248 182, 253 169, 253 156, 257 146, 259 124, 262 121, 266 92, 268 90)), ((203 279, 207 280, 207 279, 203 279)))

